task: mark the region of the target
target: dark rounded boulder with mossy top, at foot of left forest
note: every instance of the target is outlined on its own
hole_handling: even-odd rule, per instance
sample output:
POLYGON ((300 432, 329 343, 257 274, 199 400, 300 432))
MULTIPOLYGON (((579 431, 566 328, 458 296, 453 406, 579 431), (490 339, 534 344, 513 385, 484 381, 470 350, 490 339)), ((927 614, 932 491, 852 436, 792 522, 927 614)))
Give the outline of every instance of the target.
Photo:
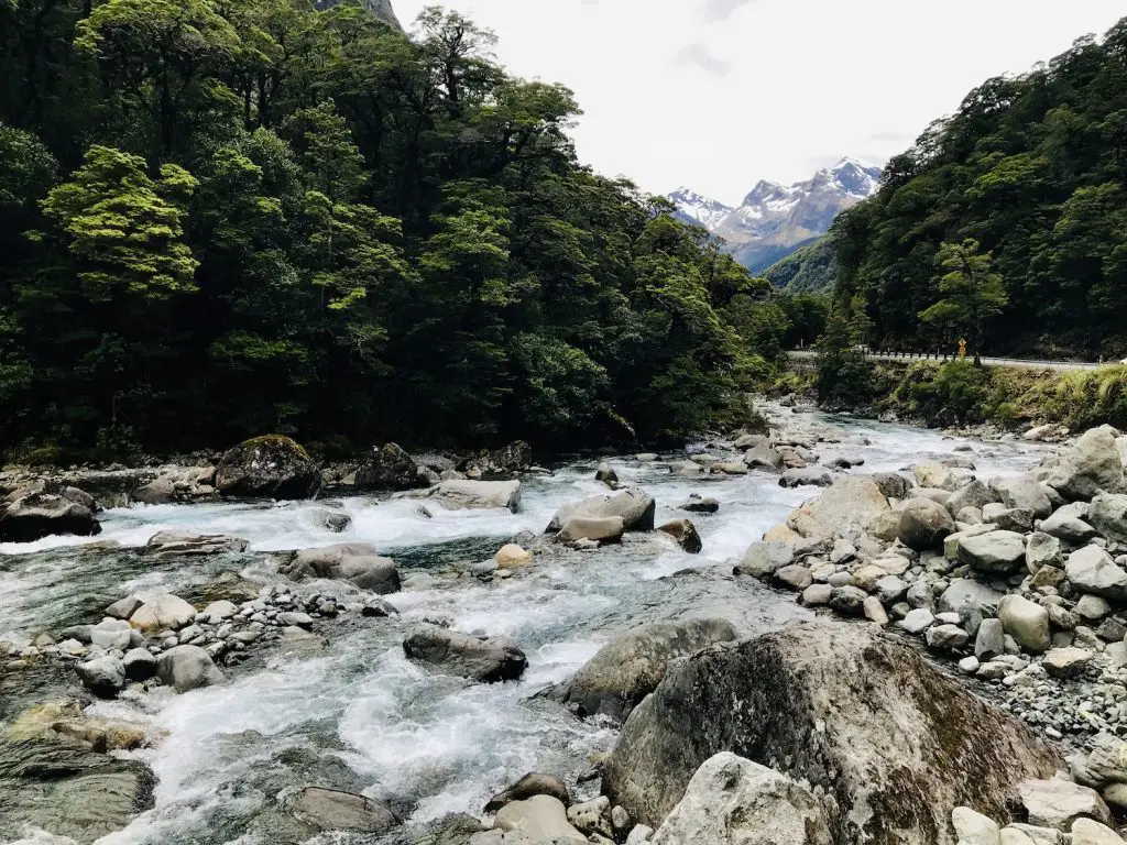
POLYGON ((215 468, 225 496, 308 499, 321 489, 321 471, 294 441, 268 434, 229 450, 215 468))

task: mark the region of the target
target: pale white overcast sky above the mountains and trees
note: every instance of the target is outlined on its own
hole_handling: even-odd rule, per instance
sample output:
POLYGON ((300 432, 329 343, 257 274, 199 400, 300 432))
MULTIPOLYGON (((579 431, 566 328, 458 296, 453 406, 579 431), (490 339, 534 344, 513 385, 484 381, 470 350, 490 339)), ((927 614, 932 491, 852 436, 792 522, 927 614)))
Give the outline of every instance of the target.
MULTIPOLYGON (((403 25, 425 0, 392 0, 403 25)), ((1122 0, 446 0, 511 73, 562 82, 579 157, 737 204, 842 155, 884 163, 985 79, 1127 15, 1122 0)))

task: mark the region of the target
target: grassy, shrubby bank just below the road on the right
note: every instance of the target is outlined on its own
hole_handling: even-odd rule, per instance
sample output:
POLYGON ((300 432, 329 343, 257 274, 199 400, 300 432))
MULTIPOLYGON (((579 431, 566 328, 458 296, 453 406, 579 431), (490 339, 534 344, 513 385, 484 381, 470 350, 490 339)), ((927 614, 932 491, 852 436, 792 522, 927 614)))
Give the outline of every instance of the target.
MULTIPOLYGON (((1045 422, 1082 430, 1127 427, 1127 366, 1058 373, 975 367, 969 362, 869 363, 864 377, 835 385, 824 407, 867 416, 895 413, 929 426, 991 424, 1022 430, 1045 422)), ((818 370, 790 371, 775 393, 818 394, 818 370)))

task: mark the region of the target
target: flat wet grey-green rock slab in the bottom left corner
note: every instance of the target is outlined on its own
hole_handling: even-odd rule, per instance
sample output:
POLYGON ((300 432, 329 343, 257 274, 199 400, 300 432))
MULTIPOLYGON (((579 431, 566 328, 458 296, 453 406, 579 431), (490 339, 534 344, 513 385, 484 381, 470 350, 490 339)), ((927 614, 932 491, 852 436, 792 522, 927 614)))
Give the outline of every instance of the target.
POLYGON ((0 830, 17 838, 27 825, 90 845, 151 808, 154 784, 140 760, 115 759, 73 741, 0 738, 0 830))

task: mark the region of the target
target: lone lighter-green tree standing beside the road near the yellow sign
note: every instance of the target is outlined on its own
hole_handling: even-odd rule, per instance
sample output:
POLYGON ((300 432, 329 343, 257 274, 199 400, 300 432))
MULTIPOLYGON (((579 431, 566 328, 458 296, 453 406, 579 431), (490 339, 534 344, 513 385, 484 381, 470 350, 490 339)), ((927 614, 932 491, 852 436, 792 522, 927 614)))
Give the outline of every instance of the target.
POLYGON ((988 321, 1002 313, 1009 300, 1002 276, 992 269, 992 259, 990 252, 979 254, 976 240, 944 243, 937 255, 940 268, 947 270, 938 279, 943 299, 920 312, 925 323, 948 333, 968 335, 976 363, 988 321))

